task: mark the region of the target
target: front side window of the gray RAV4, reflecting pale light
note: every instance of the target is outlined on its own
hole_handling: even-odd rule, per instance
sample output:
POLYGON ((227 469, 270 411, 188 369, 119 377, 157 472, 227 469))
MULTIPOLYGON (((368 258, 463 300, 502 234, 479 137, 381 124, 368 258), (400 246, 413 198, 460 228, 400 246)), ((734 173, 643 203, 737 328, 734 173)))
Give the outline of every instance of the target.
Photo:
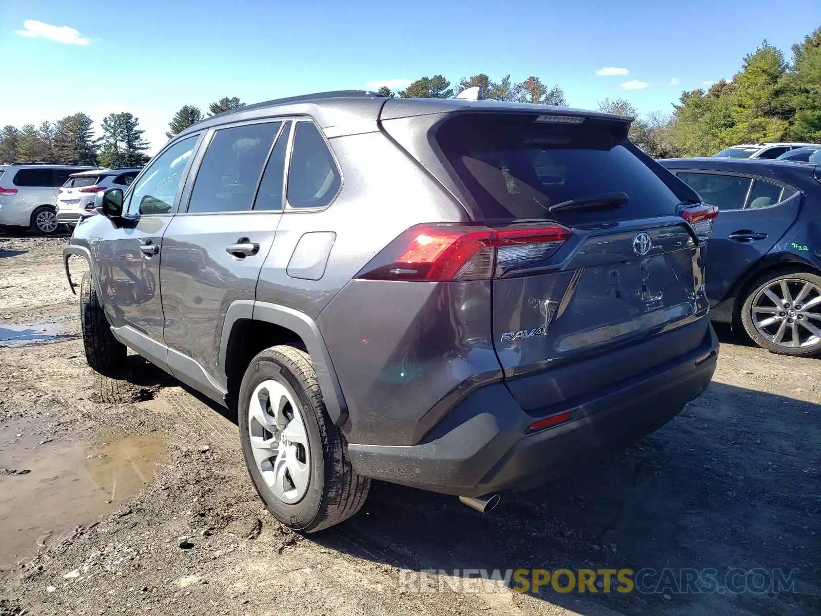
POLYGON ((198 136, 190 136, 165 150, 146 169, 131 191, 126 214, 168 214, 185 180, 186 168, 198 136))

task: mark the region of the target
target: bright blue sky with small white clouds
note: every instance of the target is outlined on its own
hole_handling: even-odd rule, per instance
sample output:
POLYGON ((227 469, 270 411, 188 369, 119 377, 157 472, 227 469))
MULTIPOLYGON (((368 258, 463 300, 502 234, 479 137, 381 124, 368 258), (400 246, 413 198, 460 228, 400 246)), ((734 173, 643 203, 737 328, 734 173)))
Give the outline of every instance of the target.
POLYGON ((763 39, 790 57, 819 0, 0 0, 0 126, 127 111, 153 154, 183 104, 401 90, 421 76, 538 76, 572 107, 672 111, 763 39))

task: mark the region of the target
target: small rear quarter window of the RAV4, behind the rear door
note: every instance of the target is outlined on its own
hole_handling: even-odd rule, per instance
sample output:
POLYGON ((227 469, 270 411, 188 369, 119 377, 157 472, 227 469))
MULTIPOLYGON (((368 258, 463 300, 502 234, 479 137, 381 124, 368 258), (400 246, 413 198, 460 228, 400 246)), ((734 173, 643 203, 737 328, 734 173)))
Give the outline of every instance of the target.
POLYGON ((296 122, 291 164, 288 167, 288 205, 323 208, 342 186, 342 177, 314 122, 296 122))

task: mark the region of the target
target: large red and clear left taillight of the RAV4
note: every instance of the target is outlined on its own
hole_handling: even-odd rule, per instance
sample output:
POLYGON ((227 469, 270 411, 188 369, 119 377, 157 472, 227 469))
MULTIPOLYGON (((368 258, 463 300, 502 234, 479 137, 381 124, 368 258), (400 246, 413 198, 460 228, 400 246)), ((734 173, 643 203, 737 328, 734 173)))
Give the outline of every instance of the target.
POLYGON ((369 280, 486 280, 527 269, 553 255, 571 230, 420 224, 392 241, 356 278, 369 280))

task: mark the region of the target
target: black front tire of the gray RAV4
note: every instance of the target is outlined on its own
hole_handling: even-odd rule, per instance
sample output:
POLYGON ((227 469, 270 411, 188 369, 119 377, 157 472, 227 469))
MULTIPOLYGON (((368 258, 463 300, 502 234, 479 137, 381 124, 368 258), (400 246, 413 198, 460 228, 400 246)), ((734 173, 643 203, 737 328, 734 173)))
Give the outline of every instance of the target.
POLYGON ((85 361, 88 361, 94 370, 108 375, 122 368, 128 350, 126 345, 114 338, 114 334, 111 333, 90 272, 83 274, 80 280, 80 330, 83 333, 85 361))

